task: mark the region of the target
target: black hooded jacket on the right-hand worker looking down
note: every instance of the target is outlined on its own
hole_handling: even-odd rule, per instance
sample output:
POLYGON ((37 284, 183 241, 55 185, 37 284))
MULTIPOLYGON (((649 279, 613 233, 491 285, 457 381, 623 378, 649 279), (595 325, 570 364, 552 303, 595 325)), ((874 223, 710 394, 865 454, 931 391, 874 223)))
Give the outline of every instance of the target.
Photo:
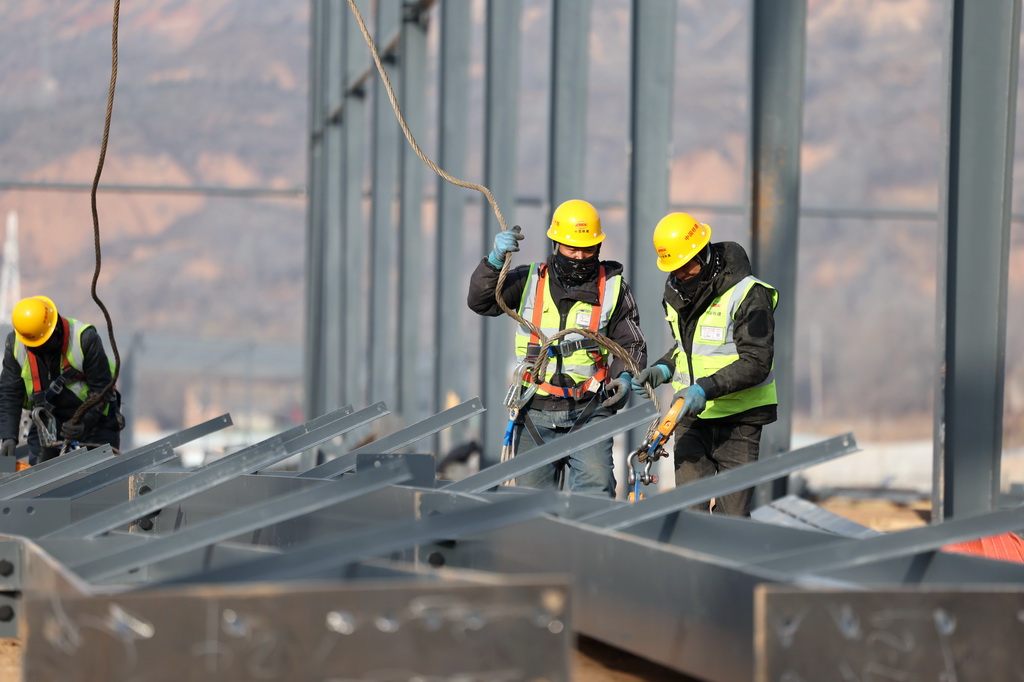
MULTIPOLYGON (((743 247, 734 242, 720 242, 712 245, 712 265, 710 278, 702 282, 693 296, 686 302, 672 286, 672 273, 665 283, 663 305, 672 306, 679 313, 679 326, 683 334, 683 347, 687 354, 692 351, 693 333, 697 319, 709 304, 731 289, 736 283, 752 274, 751 261, 743 247)), ((668 309, 668 308, 666 308, 668 309)), ((733 339, 739 358, 722 368, 710 377, 701 377, 696 383, 703 389, 709 400, 727 395, 751 386, 756 386, 768 377, 775 356, 775 315, 771 303, 771 293, 760 285, 755 285, 736 309, 733 339)), ((658 360, 673 372, 675 361, 673 345, 658 360)), ((693 376, 692 369, 690 376, 693 376)), ((753 408, 737 415, 721 417, 716 422, 738 422, 744 424, 770 424, 777 418, 777 406, 753 408)), ((689 420, 687 420, 689 421, 689 420)), ((684 422, 685 423, 685 422, 684 422)))

